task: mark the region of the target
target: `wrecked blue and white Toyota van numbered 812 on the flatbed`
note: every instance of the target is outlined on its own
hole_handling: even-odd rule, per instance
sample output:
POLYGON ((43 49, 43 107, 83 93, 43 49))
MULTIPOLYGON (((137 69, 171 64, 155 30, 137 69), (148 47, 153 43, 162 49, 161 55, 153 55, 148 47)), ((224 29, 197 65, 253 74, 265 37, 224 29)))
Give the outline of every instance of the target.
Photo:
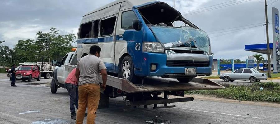
POLYGON ((208 35, 164 2, 116 0, 87 13, 78 30, 77 58, 92 45, 101 47, 108 72, 132 82, 145 76, 189 82, 212 73, 208 35))

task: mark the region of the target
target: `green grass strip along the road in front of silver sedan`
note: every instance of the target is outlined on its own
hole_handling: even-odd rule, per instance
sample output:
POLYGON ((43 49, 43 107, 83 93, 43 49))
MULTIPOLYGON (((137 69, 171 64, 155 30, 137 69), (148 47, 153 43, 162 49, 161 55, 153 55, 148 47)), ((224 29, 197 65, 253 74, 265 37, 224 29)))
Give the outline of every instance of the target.
POLYGON ((225 85, 225 89, 220 90, 195 90, 185 91, 185 94, 214 95, 221 98, 229 98, 242 101, 263 101, 280 103, 279 83, 266 82, 254 83, 250 86, 225 85), (263 90, 260 91, 260 87, 263 90))

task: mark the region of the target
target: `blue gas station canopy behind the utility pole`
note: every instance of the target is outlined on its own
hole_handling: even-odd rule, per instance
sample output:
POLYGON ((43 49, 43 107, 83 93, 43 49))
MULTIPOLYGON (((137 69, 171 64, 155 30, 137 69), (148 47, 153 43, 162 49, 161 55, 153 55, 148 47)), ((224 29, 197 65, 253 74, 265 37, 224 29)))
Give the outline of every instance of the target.
MULTIPOLYGON (((270 51, 273 50, 273 43, 269 43, 269 49, 270 49, 270 51)), ((267 54, 267 44, 265 43, 265 44, 245 45, 245 51, 267 54)))

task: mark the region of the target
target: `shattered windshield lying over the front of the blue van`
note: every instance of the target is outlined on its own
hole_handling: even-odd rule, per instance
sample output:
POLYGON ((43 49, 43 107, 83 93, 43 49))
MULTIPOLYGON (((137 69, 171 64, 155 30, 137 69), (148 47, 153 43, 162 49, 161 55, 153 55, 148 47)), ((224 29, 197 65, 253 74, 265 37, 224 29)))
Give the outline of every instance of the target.
POLYGON ((206 53, 209 52, 210 39, 203 30, 190 26, 166 27, 158 25, 152 25, 151 29, 165 49, 177 47, 182 44, 191 44, 193 42, 198 49, 206 53))

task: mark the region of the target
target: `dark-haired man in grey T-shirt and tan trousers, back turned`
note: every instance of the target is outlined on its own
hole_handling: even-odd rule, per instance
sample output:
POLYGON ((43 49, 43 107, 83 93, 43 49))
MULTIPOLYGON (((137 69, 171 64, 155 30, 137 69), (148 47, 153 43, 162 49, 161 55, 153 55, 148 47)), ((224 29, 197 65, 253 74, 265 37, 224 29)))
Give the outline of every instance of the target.
POLYGON ((103 60, 99 58, 101 48, 93 45, 90 48, 90 55, 78 61, 76 77, 79 86, 79 106, 77 111, 76 124, 82 124, 87 108, 87 124, 94 124, 96 111, 100 99, 100 87, 105 90, 107 71, 103 60), (99 72, 102 75, 103 84, 99 86, 99 72))

